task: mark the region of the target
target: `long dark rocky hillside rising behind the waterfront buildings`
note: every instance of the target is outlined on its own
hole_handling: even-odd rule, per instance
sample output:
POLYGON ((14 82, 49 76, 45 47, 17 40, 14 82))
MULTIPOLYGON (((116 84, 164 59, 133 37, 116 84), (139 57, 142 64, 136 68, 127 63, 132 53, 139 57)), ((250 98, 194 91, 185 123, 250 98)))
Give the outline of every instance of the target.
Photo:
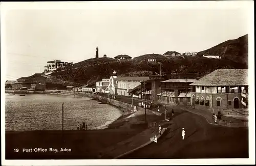
POLYGON ((196 57, 166 58, 161 54, 145 54, 130 61, 118 61, 113 58, 99 58, 82 61, 52 73, 56 79, 75 82, 79 85, 91 84, 110 77, 114 70, 119 76, 149 76, 161 72, 197 72, 203 76, 216 69, 248 68, 248 35, 235 40, 228 40, 215 47, 199 52, 196 57), (222 55, 222 59, 208 59, 203 54, 222 55), (148 62, 156 59, 157 62, 148 62), (160 65, 161 64, 161 65, 160 65))

